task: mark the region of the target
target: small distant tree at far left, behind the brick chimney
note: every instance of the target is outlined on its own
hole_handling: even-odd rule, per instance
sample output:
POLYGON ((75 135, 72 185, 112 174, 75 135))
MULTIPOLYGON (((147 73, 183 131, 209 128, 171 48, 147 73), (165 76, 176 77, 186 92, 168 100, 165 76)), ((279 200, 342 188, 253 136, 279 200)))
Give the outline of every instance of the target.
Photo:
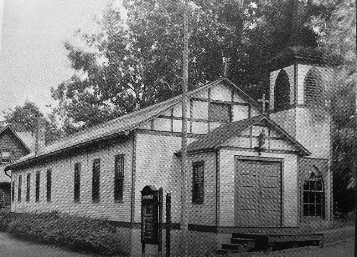
MULTIPOLYGON (((32 132, 35 133, 37 120, 44 117, 44 114, 39 110, 34 102, 25 101, 23 106, 15 106, 14 109, 8 108, 2 110, 4 113, 5 122, 10 125, 14 131, 32 132)), ((51 116, 52 117, 52 116, 51 116)), ((56 124, 47 121, 46 125, 46 143, 54 141, 59 136, 59 130, 56 124)))

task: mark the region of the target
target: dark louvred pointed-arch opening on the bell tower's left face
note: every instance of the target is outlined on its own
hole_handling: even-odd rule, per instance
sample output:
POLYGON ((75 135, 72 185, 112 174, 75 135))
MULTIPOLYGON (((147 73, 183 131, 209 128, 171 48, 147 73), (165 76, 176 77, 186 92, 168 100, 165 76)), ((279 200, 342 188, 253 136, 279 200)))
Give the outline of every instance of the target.
POLYGON ((283 69, 275 81, 275 109, 281 110, 290 104, 290 81, 288 74, 283 69))

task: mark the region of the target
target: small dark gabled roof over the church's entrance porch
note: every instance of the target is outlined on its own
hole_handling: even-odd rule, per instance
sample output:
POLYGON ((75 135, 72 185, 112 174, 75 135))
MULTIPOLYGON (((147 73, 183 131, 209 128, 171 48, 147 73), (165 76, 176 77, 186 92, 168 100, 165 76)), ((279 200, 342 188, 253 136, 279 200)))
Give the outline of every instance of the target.
MULTIPOLYGON (((273 122, 266 115, 258 115, 252 118, 222 124, 217 128, 211 130, 207 134, 202 135, 202 137, 198 138, 192 143, 188 144, 187 151, 188 153, 195 153, 198 151, 214 150, 226 140, 235 137, 246 128, 252 127, 253 125, 257 124, 258 122, 261 122, 262 120, 266 120, 268 123, 273 125, 273 127, 275 127, 286 140, 295 144, 303 155, 311 155, 309 150, 303 147, 299 142, 297 142, 297 140, 291 137, 291 135, 289 135, 284 129, 279 127, 279 125, 273 122)), ((181 150, 177 151, 176 154, 181 154, 181 150)))

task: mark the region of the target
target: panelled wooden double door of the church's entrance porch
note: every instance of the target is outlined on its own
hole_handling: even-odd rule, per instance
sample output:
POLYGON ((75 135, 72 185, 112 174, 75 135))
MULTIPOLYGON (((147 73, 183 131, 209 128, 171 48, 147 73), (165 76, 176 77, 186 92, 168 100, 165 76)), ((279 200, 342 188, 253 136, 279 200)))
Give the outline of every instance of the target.
POLYGON ((236 159, 235 226, 281 222, 281 162, 236 159))

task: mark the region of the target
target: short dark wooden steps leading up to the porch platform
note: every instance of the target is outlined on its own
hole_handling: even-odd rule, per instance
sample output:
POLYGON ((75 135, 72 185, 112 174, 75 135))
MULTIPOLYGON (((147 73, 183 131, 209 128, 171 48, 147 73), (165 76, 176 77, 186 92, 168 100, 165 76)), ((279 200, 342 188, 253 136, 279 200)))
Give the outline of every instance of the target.
POLYGON ((214 249, 216 254, 243 253, 255 247, 256 240, 251 238, 231 238, 231 243, 222 243, 222 249, 214 249))

